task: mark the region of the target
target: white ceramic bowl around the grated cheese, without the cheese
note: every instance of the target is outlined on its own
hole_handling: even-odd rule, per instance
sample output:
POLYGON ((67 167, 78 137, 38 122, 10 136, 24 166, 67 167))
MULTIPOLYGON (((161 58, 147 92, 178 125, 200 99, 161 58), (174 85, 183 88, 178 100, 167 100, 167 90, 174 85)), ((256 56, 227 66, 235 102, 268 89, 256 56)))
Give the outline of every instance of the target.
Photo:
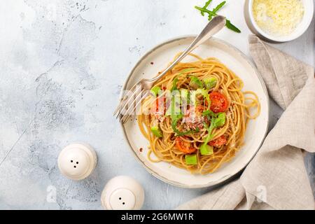
POLYGON ((255 22, 255 19, 253 18, 253 0, 246 0, 245 5, 244 5, 244 16, 246 23, 251 29, 251 31, 262 37, 265 38, 269 41, 274 41, 274 42, 286 42, 286 41, 293 41, 295 38, 298 38, 304 32, 307 30, 309 25, 311 24, 311 20, 313 19, 313 14, 314 14, 314 0, 301 0, 304 6, 304 15, 302 18, 302 21, 300 22, 299 25, 297 25, 297 28, 293 33, 288 34, 286 36, 272 36, 271 34, 268 34, 266 31, 260 29, 258 25, 255 22))

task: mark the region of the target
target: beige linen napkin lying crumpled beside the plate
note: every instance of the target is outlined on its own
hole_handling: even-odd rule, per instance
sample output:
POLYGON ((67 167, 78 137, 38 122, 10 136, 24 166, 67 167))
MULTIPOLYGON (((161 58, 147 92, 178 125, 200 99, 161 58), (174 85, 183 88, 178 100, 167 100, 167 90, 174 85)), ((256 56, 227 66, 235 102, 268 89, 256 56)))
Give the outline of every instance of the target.
POLYGON ((177 209, 314 209, 304 152, 315 152, 314 68, 249 36, 251 56, 283 112, 241 177, 177 209))

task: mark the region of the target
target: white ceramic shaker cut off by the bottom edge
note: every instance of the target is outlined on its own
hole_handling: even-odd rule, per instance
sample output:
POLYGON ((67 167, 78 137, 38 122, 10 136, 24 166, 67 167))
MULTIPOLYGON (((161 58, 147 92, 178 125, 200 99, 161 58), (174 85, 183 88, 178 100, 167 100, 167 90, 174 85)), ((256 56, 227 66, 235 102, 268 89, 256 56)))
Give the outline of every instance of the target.
POLYGON ((130 176, 116 176, 102 192, 102 206, 108 210, 139 210, 144 204, 144 188, 130 176))

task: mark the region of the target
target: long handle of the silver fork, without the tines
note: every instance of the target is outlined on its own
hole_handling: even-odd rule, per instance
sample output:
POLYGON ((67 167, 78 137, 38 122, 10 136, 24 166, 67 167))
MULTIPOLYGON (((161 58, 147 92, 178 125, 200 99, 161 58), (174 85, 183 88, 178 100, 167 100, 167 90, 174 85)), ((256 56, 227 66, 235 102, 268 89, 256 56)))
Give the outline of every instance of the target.
POLYGON ((156 76, 155 78, 152 78, 151 81, 159 80, 160 78, 162 78, 162 76, 165 76, 167 71, 173 69, 177 63, 179 63, 184 57, 186 57, 186 55, 188 55, 195 48, 197 48, 197 46, 204 43, 204 41, 207 41, 209 38, 211 38, 211 36, 214 36, 214 34, 216 34, 218 31, 220 31, 224 26, 225 26, 225 17, 224 16, 217 15, 216 17, 214 17, 207 24, 207 26, 204 27, 202 32, 195 38, 195 40, 192 43, 190 43, 188 48, 186 48, 186 50, 183 53, 181 53, 181 55, 179 57, 177 57, 177 59, 172 64, 170 64, 167 67, 167 69, 165 69, 162 73, 160 73, 160 75, 156 76))

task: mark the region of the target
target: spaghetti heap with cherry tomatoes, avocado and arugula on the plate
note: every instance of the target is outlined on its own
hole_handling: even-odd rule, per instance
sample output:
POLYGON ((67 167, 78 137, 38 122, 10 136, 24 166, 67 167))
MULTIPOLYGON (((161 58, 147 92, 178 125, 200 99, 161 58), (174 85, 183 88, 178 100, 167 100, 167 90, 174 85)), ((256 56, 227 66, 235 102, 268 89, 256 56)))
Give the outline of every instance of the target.
POLYGON ((138 124, 151 162, 209 174, 235 157, 260 103, 254 92, 241 91, 242 80, 218 59, 190 56, 197 60, 176 64, 155 83, 138 124))

